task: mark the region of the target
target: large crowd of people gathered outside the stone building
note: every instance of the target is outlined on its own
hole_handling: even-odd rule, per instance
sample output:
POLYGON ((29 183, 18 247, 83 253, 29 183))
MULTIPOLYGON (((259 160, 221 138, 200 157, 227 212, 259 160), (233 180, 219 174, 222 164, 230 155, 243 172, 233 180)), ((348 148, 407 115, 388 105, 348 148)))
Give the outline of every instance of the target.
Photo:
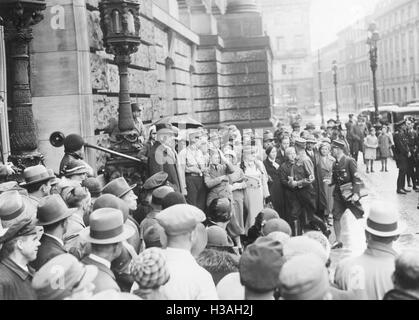
POLYGON ((363 126, 158 124, 138 154, 139 194, 124 177, 103 183, 69 135, 58 175, 37 165, 0 184, 0 300, 419 299, 419 254, 394 251, 392 204, 371 206, 366 251, 330 270, 343 213, 364 216, 358 153, 393 150, 385 130, 369 138, 363 126))

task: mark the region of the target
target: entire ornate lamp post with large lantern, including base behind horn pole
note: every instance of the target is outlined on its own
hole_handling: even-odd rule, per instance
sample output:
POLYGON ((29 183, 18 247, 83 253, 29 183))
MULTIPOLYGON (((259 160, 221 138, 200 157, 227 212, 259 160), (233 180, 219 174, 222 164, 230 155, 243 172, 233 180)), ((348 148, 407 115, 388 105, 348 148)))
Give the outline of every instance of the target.
MULTIPOLYGON (((141 149, 131 110, 128 67, 131 54, 140 45, 139 0, 102 0, 99 4, 100 26, 106 52, 114 55, 119 70, 118 125, 110 134, 110 149, 136 156, 141 149)), ((107 159, 107 180, 123 176, 130 184, 141 185, 143 168, 121 157, 107 159)))

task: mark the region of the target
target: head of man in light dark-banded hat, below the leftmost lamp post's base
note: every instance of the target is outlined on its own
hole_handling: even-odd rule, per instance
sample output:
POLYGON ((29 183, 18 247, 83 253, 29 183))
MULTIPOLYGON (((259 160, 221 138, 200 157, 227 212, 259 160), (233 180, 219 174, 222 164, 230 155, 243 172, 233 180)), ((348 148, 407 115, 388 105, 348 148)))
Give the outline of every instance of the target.
POLYGON ((51 181, 55 179, 43 165, 28 167, 23 171, 25 182, 20 186, 28 190, 35 206, 41 198, 51 194, 51 181))

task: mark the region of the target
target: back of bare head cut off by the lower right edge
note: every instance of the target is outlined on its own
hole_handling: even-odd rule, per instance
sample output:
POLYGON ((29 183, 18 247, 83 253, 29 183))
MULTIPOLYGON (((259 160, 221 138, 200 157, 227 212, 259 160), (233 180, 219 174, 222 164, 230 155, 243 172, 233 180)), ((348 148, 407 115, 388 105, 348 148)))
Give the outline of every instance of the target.
POLYGON ((419 250, 408 250, 396 259, 394 285, 404 290, 419 290, 419 250))

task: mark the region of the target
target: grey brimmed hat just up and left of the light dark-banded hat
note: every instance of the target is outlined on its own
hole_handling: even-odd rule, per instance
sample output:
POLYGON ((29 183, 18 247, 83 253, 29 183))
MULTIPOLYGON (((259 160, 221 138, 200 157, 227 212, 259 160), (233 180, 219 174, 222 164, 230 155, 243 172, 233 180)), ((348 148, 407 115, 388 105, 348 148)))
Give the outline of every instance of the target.
POLYGON ((38 226, 48 226, 67 219, 76 211, 76 208, 69 209, 58 194, 46 196, 39 201, 36 224, 38 226))

